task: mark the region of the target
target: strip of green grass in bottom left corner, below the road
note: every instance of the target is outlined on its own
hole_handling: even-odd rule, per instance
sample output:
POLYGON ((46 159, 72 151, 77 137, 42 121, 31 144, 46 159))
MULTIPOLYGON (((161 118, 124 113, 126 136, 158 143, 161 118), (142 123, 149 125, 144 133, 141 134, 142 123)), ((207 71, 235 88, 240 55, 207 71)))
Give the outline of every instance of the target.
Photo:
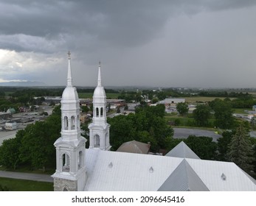
POLYGON ((15 180, 0 177, 0 185, 6 186, 10 191, 53 191, 53 183, 37 182, 31 180, 15 180))

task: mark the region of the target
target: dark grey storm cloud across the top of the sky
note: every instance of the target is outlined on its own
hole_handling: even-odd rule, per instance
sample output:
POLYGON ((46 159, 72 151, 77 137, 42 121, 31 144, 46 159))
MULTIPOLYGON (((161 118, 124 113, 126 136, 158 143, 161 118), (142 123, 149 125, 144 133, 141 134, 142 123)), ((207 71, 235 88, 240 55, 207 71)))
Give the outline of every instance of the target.
MULTIPOLYGON (((49 41, 59 40, 60 35, 66 36, 68 41, 70 35, 74 43, 66 42, 69 47, 81 46, 75 41, 83 41, 83 36, 106 45, 136 46, 156 38, 173 15, 249 7, 255 3, 256 1, 233 0, 0 1, 0 34, 24 34, 49 41)), ((87 46, 88 44, 85 43, 87 46)), ((12 41, 1 43, 0 46, 8 49, 8 45, 9 49, 16 48, 18 51, 23 48, 24 51, 34 49, 46 52, 38 46, 26 48, 15 45, 12 41)))

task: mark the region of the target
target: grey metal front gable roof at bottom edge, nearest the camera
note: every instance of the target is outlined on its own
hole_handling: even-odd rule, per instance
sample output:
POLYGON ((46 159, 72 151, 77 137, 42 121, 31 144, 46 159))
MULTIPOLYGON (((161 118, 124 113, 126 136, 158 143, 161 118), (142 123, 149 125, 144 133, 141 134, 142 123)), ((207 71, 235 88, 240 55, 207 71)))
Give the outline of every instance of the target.
POLYGON ((210 191, 204 182, 191 168, 187 160, 182 160, 179 166, 165 180, 158 191, 210 191))

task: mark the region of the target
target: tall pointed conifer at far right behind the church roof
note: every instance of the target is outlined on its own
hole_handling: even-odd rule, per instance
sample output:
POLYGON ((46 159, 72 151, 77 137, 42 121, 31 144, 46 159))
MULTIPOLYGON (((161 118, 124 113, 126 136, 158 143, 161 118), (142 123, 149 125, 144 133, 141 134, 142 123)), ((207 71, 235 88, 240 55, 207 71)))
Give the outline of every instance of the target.
POLYGON ((252 143, 249 141, 249 135, 243 124, 240 124, 235 130, 235 135, 229 143, 229 152, 227 157, 230 161, 241 167, 247 173, 253 169, 252 143))

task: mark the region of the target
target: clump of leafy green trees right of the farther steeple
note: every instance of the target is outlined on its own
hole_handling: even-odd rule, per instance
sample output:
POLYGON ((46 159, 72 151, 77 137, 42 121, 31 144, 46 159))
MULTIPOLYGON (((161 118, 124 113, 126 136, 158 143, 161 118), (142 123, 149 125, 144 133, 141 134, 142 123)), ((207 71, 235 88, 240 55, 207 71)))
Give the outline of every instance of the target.
POLYGON ((113 150, 127 141, 151 142, 151 151, 167 149, 173 129, 165 121, 165 105, 136 108, 135 114, 108 118, 110 143, 113 150))

